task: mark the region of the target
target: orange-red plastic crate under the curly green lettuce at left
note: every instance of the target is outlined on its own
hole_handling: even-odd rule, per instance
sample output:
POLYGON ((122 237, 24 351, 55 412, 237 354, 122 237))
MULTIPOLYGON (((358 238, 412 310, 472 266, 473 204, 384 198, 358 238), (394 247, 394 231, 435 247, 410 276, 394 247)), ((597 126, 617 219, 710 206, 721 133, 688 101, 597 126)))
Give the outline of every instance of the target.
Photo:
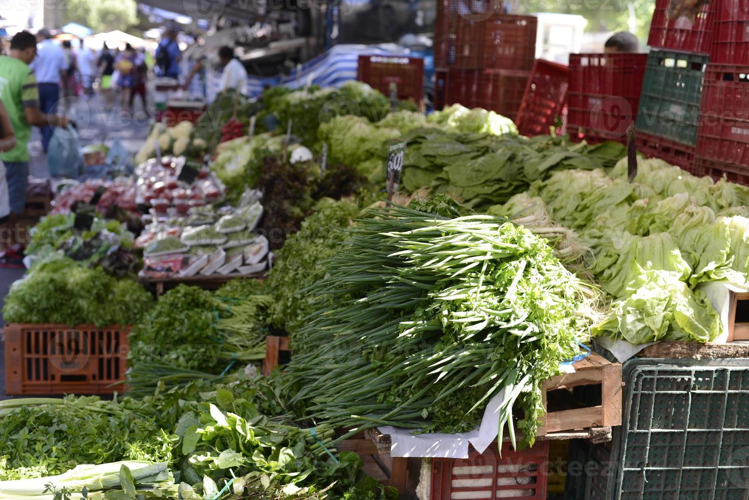
MULTIPOLYGON (((112 394, 125 378, 130 326, 5 326, 7 394, 112 394)), ((121 391, 122 389, 119 388, 121 391)))

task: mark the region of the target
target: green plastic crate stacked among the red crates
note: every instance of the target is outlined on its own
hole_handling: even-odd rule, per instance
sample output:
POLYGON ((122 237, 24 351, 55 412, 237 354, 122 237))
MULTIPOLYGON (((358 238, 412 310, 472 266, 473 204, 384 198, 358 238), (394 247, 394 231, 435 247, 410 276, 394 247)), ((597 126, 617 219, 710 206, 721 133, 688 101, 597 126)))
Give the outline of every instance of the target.
POLYGON ((697 144, 703 78, 709 56, 651 50, 636 128, 689 146, 697 144))

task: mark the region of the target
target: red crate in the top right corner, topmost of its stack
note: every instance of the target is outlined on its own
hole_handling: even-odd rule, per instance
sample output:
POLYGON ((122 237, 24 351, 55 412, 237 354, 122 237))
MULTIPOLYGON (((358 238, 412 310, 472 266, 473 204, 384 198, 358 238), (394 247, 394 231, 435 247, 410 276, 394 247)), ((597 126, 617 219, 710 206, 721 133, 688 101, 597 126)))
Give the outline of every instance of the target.
POLYGON ((710 62, 749 65, 749 1, 718 1, 710 62))

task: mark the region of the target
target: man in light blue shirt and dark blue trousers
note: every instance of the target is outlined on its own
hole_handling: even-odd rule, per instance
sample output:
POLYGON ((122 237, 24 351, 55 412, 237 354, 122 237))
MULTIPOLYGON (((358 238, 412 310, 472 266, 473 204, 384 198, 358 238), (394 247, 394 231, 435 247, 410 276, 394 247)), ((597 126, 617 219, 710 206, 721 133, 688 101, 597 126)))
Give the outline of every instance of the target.
MULTIPOLYGON (((55 115, 60 100, 60 79, 67 70, 65 52, 52 41, 52 34, 46 29, 37 32, 37 58, 29 64, 37 76, 39 88, 39 111, 43 115, 55 115)), ((46 153, 52 129, 49 125, 42 127, 42 146, 46 153)))

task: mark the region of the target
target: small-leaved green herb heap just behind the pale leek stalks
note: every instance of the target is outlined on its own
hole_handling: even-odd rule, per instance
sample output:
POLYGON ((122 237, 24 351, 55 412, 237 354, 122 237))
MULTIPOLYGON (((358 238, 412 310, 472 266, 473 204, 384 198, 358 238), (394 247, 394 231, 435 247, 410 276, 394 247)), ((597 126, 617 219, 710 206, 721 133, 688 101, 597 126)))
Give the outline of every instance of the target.
POLYGON ((156 425, 157 409, 73 397, 0 402, 0 481, 40 478, 82 463, 171 462, 177 436, 156 425))

